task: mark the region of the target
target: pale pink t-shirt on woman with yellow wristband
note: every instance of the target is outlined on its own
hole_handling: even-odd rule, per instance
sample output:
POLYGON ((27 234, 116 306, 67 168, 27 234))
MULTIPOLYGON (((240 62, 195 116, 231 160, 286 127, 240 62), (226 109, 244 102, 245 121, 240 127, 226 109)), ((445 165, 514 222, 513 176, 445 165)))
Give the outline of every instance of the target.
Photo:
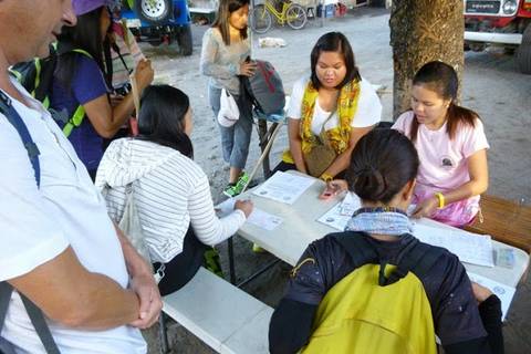
MULTIPOLYGON (((408 111, 398 117, 393 128, 409 136, 414 118, 413 111, 408 111)), ((438 131, 430 131, 420 124, 415 147, 420 159, 416 189, 445 192, 470 180, 468 157, 489 148, 489 143, 483 124, 477 119, 473 127, 460 125, 454 139, 446 132, 446 123, 438 131)))

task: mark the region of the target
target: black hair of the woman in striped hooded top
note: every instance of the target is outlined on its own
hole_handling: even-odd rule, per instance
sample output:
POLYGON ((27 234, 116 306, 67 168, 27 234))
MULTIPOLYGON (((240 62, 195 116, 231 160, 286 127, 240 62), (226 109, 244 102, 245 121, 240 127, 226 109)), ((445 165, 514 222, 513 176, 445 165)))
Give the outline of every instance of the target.
POLYGON ((189 108, 190 100, 179 88, 147 86, 140 100, 137 138, 171 147, 192 158, 191 140, 185 133, 185 116, 189 108))

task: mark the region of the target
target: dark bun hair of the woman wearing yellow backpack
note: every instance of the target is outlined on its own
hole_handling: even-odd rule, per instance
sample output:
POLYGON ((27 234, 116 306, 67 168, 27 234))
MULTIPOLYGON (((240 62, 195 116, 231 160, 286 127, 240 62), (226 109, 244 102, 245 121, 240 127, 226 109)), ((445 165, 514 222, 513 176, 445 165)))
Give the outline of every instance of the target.
POLYGON ((387 204, 417 176, 418 165, 417 150, 404 134, 375 128, 357 142, 345 177, 362 200, 387 204))

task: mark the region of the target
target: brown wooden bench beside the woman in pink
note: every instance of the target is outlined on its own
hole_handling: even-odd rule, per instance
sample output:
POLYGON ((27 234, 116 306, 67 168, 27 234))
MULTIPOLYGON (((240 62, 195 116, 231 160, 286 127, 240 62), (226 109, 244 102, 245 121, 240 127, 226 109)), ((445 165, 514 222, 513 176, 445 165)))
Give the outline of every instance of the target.
POLYGON ((487 233, 497 241, 514 246, 531 254, 531 208, 493 196, 481 196, 480 218, 466 227, 468 231, 487 233))

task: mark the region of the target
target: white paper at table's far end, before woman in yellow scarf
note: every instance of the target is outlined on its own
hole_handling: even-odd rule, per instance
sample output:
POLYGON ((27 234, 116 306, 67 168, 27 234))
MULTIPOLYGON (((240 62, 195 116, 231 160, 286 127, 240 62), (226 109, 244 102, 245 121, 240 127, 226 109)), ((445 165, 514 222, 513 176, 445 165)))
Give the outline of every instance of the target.
POLYGON ((313 178, 277 171, 252 194, 292 205, 314 181, 313 178))

